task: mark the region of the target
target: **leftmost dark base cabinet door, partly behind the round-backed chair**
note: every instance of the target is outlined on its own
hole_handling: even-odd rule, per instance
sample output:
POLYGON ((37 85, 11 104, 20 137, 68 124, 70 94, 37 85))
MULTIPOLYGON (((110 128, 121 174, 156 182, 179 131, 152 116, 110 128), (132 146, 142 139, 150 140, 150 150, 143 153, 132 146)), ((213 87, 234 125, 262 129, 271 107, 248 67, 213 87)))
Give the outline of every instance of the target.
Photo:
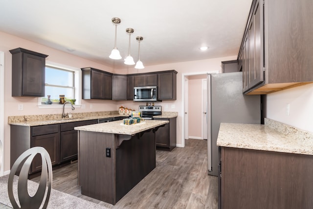
MULTIPOLYGON (((59 133, 46 134, 41 136, 32 137, 32 147, 44 147, 50 155, 52 165, 60 163, 60 139, 59 133)), ((31 172, 39 171, 42 167, 42 160, 37 155, 31 167, 31 172)))

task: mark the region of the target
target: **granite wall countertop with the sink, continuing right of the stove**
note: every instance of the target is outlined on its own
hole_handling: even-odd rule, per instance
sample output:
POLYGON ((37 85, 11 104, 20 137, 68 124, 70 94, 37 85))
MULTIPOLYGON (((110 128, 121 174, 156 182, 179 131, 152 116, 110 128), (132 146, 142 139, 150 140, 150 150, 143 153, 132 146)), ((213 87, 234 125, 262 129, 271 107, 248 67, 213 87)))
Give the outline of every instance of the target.
MULTIPOLYGON (((68 123, 84 120, 93 120, 108 117, 120 117, 128 116, 118 114, 118 111, 103 111, 103 112, 89 112, 89 113, 72 113, 72 118, 62 118, 62 114, 50 114, 50 115, 31 115, 31 116, 9 116, 9 125, 21 125, 21 126, 38 126, 49 125, 58 123, 68 123)), ((155 116, 158 118, 172 118, 177 117, 177 112, 162 112, 162 115, 155 116)))

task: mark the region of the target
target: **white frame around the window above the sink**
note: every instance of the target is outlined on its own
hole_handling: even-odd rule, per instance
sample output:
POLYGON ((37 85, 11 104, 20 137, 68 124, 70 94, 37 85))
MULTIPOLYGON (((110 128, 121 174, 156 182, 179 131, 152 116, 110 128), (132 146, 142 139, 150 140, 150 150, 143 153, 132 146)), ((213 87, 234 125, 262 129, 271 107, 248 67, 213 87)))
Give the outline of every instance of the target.
MULTIPOLYGON (((61 69, 61 70, 69 70, 69 71, 74 71, 74 93, 75 93, 75 105, 74 107, 81 107, 81 77, 82 77, 82 71, 80 68, 73 68, 67 65, 59 64, 59 63, 54 63, 50 61, 46 61, 45 66, 51 67, 51 68, 56 68, 56 69, 61 69)), ((39 108, 63 108, 62 104, 53 104, 53 105, 46 105, 41 103, 42 97, 38 97, 38 107, 39 108)))

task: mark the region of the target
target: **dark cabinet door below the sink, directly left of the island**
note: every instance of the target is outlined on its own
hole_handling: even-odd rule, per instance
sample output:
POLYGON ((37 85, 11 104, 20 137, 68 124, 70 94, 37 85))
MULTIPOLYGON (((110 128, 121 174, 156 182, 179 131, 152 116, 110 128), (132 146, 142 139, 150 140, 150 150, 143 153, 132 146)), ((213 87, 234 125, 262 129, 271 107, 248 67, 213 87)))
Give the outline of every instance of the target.
POLYGON ((77 158, 78 134, 76 130, 61 132, 61 163, 77 158))

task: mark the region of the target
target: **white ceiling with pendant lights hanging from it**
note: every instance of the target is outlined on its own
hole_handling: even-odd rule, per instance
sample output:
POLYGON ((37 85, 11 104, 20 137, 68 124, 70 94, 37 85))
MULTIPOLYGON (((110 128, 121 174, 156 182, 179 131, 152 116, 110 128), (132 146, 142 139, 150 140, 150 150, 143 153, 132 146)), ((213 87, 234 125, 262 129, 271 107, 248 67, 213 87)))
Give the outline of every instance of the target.
MULTIPOLYGON (((114 46, 145 66, 237 55, 252 0, 2 0, 0 31, 87 58, 114 69, 114 46), (200 51, 200 46, 209 46, 200 51), (74 49, 70 52, 67 48, 74 49)), ((44 52, 41 52, 44 53, 44 52)))

